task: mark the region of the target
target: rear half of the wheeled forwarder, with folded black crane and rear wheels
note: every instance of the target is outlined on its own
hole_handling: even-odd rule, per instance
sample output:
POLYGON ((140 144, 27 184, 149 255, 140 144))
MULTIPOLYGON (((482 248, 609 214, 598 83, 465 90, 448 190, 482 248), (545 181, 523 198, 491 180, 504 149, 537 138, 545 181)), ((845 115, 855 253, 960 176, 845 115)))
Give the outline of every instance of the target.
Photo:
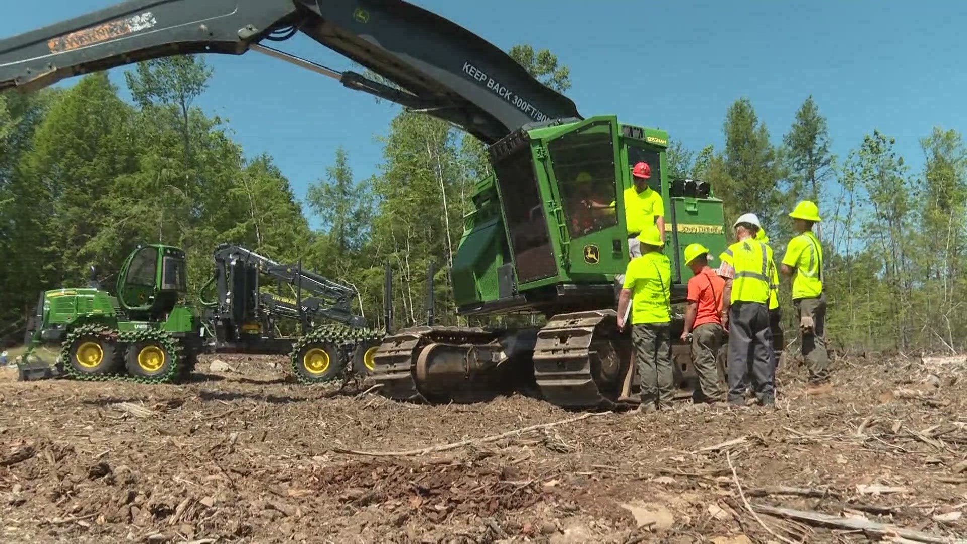
POLYGON ((302 263, 281 264, 233 244, 221 244, 213 255, 215 274, 204 295, 215 287, 215 300, 202 299, 203 318, 211 338, 207 348, 220 353, 289 354, 292 373, 304 383, 336 377, 352 361, 354 373, 368 374, 382 335, 366 328, 353 314, 356 289, 343 286, 302 263), (267 276, 288 295, 262 290, 267 276), (278 337, 278 317, 299 323, 299 337, 278 337), (336 321, 339 325, 325 325, 336 321))

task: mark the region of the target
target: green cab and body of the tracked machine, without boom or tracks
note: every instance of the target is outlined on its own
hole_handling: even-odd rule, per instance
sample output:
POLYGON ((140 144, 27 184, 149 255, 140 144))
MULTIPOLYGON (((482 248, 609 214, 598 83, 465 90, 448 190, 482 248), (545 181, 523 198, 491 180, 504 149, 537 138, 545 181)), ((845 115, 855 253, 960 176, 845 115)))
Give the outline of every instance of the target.
POLYGON ((671 196, 667 145, 664 131, 602 115, 519 131, 492 146, 495 174, 476 188, 454 257, 458 311, 612 307, 613 292, 601 287, 629 262, 623 192, 633 187, 631 166, 642 160, 652 166, 649 186, 664 203, 662 251, 672 259, 675 283, 688 282, 683 253, 690 243, 713 256, 725 249, 722 205, 711 193, 671 196), (582 292, 580 302, 565 299, 582 292))

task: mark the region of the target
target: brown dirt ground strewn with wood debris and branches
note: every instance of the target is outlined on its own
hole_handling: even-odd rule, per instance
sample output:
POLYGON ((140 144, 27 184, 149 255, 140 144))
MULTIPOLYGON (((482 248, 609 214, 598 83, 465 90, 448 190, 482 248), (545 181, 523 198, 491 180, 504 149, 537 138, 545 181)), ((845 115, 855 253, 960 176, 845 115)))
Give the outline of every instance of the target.
POLYGON ((821 396, 788 365, 776 409, 643 415, 397 404, 219 358, 170 386, 3 371, 0 541, 967 538, 967 357, 838 359, 821 396))

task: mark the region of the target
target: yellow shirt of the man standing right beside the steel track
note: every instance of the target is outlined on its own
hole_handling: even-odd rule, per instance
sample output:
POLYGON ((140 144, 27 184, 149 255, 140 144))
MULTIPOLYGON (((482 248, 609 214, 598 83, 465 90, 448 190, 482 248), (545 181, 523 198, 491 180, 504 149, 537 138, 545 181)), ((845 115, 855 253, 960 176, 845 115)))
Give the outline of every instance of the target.
POLYGON ((625 271, 631 289, 631 324, 671 321, 671 261, 659 252, 632 258, 625 271))

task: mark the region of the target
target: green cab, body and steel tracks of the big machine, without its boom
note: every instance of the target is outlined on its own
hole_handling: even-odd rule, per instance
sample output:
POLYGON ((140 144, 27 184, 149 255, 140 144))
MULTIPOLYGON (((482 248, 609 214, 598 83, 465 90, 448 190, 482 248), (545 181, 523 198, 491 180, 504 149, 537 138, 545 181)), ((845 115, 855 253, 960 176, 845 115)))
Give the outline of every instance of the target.
MULTIPOLYGON (((617 329, 615 311, 615 275, 629 262, 623 192, 631 166, 652 167, 650 186, 664 201, 670 304, 685 301, 685 248, 700 242, 718 255, 726 246, 721 200, 704 182, 668 179, 667 145, 666 133, 615 116, 529 125, 491 145, 495 173, 474 191, 454 257, 458 314, 536 313, 546 324, 401 330, 375 356, 382 394, 475 402, 536 385, 558 406, 633 402, 630 334, 617 329)), ((673 339, 683 321, 674 318, 673 339)), ((689 347, 673 351, 676 380, 689 389, 689 347)))

